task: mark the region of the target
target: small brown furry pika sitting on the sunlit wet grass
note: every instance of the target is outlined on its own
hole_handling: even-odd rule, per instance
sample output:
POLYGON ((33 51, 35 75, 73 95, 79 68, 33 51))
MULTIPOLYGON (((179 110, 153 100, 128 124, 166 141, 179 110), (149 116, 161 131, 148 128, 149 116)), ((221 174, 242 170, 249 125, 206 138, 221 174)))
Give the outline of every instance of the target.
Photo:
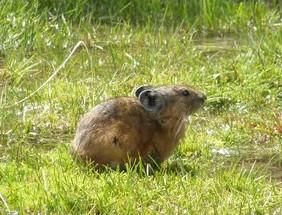
POLYGON ((135 96, 106 101, 87 113, 78 124, 74 154, 98 166, 139 159, 159 164, 184 136, 188 116, 206 100, 184 85, 141 86, 135 96))

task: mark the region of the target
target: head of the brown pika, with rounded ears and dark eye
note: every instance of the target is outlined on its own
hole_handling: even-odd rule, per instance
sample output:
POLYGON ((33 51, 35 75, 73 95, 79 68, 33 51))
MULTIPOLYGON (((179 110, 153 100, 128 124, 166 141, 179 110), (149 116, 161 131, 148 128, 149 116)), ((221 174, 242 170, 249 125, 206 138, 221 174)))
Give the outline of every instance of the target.
POLYGON ((141 86, 136 89, 135 96, 145 110, 164 121, 188 116, 206 100, 202 92, 185 85, 141 86))

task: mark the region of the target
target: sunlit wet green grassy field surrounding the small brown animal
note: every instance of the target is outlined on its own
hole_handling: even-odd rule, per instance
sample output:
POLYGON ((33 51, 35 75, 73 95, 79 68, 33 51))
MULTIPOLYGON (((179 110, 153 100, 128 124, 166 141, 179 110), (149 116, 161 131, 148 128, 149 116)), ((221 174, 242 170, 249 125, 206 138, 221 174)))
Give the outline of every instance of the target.
POLYGON ((282 5, 255 2, 0 1, 0 214, 282 214, 282 5), (75 163, 80 117, 148 83, 208 96, 174 155, 75 163))

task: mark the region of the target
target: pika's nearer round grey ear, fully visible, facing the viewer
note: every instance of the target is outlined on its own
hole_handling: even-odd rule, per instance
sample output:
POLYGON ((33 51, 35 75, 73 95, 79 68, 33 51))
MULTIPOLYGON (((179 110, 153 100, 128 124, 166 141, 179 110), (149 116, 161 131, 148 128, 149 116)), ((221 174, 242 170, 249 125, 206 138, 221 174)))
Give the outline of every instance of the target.
POLYGON ((144 90, 138 99, 147 111, 154 113, 160 112, 165 106, 164 97, 155 90, 144 90))

